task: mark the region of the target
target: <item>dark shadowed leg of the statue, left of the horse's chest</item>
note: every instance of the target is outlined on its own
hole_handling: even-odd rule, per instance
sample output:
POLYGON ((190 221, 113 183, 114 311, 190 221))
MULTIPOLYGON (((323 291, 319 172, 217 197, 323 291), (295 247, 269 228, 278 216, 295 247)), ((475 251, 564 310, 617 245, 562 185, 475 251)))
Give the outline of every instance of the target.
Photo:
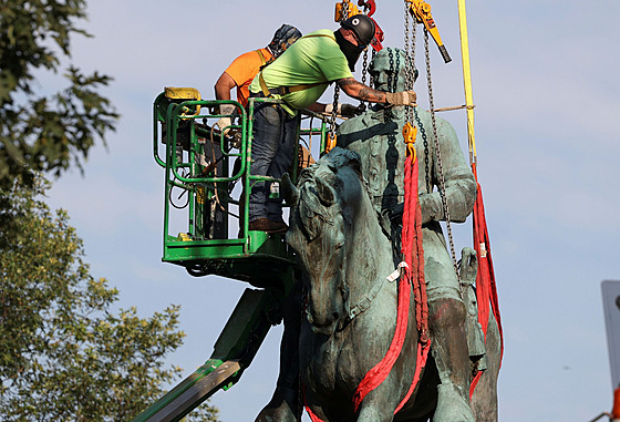
POLYGON ((255 422, 298 422, 302 404, 299 395, 299 333, 301 329, 301 280, 285 299, 285 332, 280 343, 280 374, 276 391, 255 422))

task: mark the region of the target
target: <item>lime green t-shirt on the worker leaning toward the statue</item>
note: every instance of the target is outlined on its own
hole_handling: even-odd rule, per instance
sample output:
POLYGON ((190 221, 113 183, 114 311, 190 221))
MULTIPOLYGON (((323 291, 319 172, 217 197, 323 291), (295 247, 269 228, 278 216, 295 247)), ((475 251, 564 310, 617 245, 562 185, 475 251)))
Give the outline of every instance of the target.
MULTIPOLYGON (((324 82, 286 95, 273 95, 283 100, 286 105, 289 105, 286 109, 292 109, 289 111, 294 114, 297 110, 306 109, 317 102, 330 82, 353 78, 353 74, 349 70, 347 58, 335 42, 333 31, 322 29, 297 40, 282 55, 262 70, 262 78, 269 89, 324 82)), ((254 93, 261 91, 259 75, 254 79, 250 91, 254 93)))

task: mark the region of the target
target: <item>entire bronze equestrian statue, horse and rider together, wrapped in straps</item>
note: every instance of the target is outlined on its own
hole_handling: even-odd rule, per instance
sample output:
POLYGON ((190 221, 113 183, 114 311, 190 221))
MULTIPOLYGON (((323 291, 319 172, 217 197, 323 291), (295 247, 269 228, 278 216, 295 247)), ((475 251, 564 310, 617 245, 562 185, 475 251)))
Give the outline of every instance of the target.
MULTIPOLYGON (((402 91, 405 63, 400 50, 378 53, 370 65, 375 88, 402 91)), ((289 303, 297 312, 291 312, 285 330, 278 389, 257 421, 298 421, 302 401, 323 421, 497 421, 497 327, 489 323, 485 356, 471 287, 475 255, 465 254, 459 285, 440 225, 445 217, 435 191, 438 163, 431 116, 417 107, 414 116, 412 123, 420 128, 415 148, 432 340, 420 385, 394 416, 415 369, 417 332, 410 321, 403 348, 409 354, 399 357, 386 380, 358 410, 351 401, 356 383, 385 353, 395 323, 395 284, 386 282, 385 276, 400 261, 394 251, 400 251, 402 227, 405 120, 403 107, 378 105, 340 126, 338 145, 350 151, 335 148, 306 169, 298 189, 282 186, 293 206, 287 241, 306 270, 306 305, 300 317, 300 305, 289 303), (299 330, 300 356, 291 352, 299 330), (485 372, 471 406, 472 371, 485 368, 488 375, 485 372), (298 388, 299 372, 304 394, 298 388)), ((454 128, 437 119, 436 133, 451 220, 461 223, 472 213, 476 183, 454 128)), ((300 301, 301 291, 296 297, 300 301)), ((415 315, 412 309, 410 318, 415 315)))

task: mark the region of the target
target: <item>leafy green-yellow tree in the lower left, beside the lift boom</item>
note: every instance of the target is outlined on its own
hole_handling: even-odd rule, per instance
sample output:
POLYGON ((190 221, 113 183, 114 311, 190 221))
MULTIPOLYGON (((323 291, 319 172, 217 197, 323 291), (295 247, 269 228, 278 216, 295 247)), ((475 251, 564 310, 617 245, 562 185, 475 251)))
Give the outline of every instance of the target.
MULTIPOLYGON (((19 181, 18 181, 19 182, 19 181)), ((179 374, 178 307, 151 318, 114 313, 117 290, 90 275, 64 210, 40 199, 48 183, 0 188, 17 229, 0 233, 0 419, 130 421, 179 374)), ((203 404, 190 421, 216 421, 203 404)))

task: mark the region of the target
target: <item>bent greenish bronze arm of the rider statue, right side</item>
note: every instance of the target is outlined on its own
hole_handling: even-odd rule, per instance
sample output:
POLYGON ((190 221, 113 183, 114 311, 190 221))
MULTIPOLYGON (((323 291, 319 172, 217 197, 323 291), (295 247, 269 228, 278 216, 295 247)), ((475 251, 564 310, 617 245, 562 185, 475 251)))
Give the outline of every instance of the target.
MULTIPOLYGON (((463 223, 474 209, 476 181, 465 161, 454 127, 446 121, 437 119, 437 135, 440 137, 450 218, 451 222, 463 223)), ((420 166, 424 166, 424 163, 421 162, 420 166)), ((433 159, 431 177, 433 185, 440 186, 440 168, 436 159, 433 159)), ((442 197, 438 192, 422 194, 420 205, 422 223, 445 220, 442 197)))

